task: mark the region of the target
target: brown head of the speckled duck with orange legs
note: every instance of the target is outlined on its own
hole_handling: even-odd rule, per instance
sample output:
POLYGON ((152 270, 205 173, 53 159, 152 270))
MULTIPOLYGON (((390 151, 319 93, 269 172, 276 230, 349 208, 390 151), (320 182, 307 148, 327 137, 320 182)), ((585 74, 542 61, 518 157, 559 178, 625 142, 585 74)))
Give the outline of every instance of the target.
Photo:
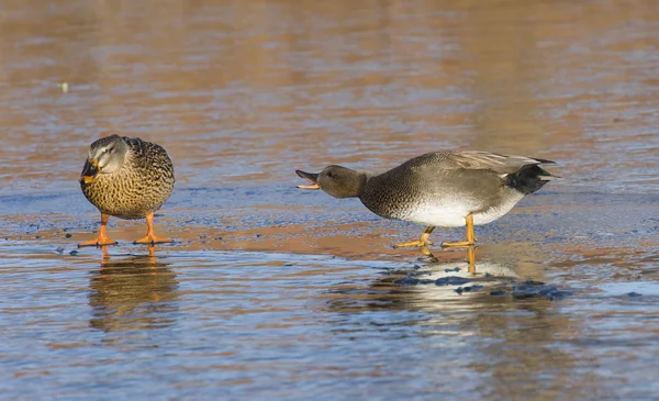
POLYGON ((82 167, 80 182, 91 183, 99 174, 119 170, 129 152, 129 145, 119 135, 102 137, 89 146, 87 160, 82 167))

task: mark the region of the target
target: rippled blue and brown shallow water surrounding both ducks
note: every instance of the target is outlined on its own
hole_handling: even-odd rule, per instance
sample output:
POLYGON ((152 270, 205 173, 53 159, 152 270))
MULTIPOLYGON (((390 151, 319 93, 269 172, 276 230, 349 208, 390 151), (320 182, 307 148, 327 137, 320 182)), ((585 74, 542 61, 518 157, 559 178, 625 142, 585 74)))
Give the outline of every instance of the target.
POLYGON ((5 1, 0 393, 654 398, 657 21, 654 1, 5 1), (177 243, 111 219, 118 246, 76 248, 110 132, 167 148, 177 243), (392 248, 422 227, 295 189, 295 168, 459 147, 565 178, 477 227, 476 275, 465 250, 392 248))

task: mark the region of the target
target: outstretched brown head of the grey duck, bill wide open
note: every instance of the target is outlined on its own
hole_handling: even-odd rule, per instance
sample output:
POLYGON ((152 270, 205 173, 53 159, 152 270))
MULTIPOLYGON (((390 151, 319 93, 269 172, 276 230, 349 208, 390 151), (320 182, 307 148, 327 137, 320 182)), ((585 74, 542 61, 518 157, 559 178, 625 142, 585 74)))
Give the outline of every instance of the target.
POLYGON ((298 176, 309 180, 311 185, 298 186, 301 189, 322 189, 334 198, 359 197, 366 176, 342 166, 327 166, 319 174, 295 170, 298 176))

